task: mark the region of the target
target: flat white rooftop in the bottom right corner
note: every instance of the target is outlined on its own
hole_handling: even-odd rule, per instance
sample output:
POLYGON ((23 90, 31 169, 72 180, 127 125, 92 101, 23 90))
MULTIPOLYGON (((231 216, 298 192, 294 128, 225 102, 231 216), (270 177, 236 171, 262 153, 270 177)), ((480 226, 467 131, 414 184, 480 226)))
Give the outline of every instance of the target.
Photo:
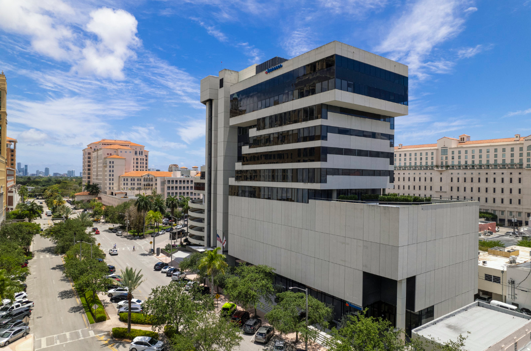
POLYGON ((467 337, 466 350, 483 351, 524 327, 529 319, 531 316, 475 302, 421 325, 413 333, 440 342, 457 340, 461 334, 467 337))

